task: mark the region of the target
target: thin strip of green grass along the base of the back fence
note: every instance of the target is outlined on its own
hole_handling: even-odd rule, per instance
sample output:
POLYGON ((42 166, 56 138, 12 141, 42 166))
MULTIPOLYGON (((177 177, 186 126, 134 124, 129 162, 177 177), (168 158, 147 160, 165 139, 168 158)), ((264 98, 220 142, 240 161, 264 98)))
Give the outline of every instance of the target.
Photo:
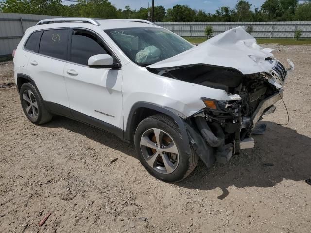
MULTIPOLYGON (((190 43, 193 44, 199 44, 207 40, 206 37, 184 37, 186 40, 188 40, 190 43)), ((268 44, 268 43, 275 43, 279 45, 311 45, 311 39, 280 39, 280 38, 273 38, 273 39, 264 39, 264 38, 258 38, 257 39, 258 44, 268 44)))

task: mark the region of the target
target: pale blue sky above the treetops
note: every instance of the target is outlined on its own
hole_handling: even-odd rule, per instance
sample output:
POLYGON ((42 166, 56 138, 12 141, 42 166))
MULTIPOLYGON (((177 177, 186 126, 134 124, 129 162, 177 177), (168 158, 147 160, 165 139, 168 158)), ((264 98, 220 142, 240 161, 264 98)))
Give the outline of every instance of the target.
MULTIPOLYGON (((126 5, 129 5, 133 10, 140 8, 141 6, 147 8, 148 2, 151 6, 151 0, 109 0, 117 9, 124 9, 126 5)), ((259 7, 264 2, 263 0, 248 0, 254 7, 259 7)), ((165 9, 172 8, 176 4, 188 5, 196 10, 204 10, 206 12, 214 13, 221 6, 229 6, 233 8, 237 3, 237 0, 155 0, 155 5, 162 5, 165 9)))

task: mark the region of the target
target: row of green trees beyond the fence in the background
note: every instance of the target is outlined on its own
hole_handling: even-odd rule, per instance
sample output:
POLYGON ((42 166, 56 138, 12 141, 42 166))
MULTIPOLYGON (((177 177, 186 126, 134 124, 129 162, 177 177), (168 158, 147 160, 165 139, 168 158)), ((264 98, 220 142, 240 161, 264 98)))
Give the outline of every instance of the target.
MULTIPOLYGON (((154 19, 169 22, 242 22, 242 21, 311 21, 311 0, 298 4, 298 0, 265 0, 261 9, 247 0, 238 0, 234 9, 221 6, 214 14, 194 10, 186 5, 175 5, 165 10, 155 6, 154 19)), ((148 19, 151 8, 133 10, 130 6, 116 9, 111 0, 77 0, 72 5, 62 0, 0 0, 0 12, 58 15, 94 18, 148 19)))

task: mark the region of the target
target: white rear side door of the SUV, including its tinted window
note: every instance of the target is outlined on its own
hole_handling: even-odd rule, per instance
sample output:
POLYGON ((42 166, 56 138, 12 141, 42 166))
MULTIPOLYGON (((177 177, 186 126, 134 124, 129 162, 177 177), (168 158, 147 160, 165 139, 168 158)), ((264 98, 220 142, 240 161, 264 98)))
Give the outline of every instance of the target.
MULTIPOLYGON (((28 75, 35 81, 43 100, 69 107, 64 67, 67 58, 69 29, 51 29, 42 32, 41 39, 31 53, 27 64, 28 75)), ((34 48, 34 45, 32 47, 34 48)))

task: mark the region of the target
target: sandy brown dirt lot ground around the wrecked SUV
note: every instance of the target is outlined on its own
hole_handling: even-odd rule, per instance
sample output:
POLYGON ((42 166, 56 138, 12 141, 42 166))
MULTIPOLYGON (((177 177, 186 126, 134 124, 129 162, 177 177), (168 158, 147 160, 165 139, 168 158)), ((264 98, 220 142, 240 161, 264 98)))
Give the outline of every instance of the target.
MULTIPOLYGON (((180 183, 151 177, 109 133, 63 117, 31 124, 16 88, 0 88, 0 232, 309 233, 311 46, 269 46, 296 65, 285 85, 290 123, 277 125, 287 121, 277 103, 255 148, 180 183)), ((0 64, 0 84, 13 82, 12 69, 0 64)))

